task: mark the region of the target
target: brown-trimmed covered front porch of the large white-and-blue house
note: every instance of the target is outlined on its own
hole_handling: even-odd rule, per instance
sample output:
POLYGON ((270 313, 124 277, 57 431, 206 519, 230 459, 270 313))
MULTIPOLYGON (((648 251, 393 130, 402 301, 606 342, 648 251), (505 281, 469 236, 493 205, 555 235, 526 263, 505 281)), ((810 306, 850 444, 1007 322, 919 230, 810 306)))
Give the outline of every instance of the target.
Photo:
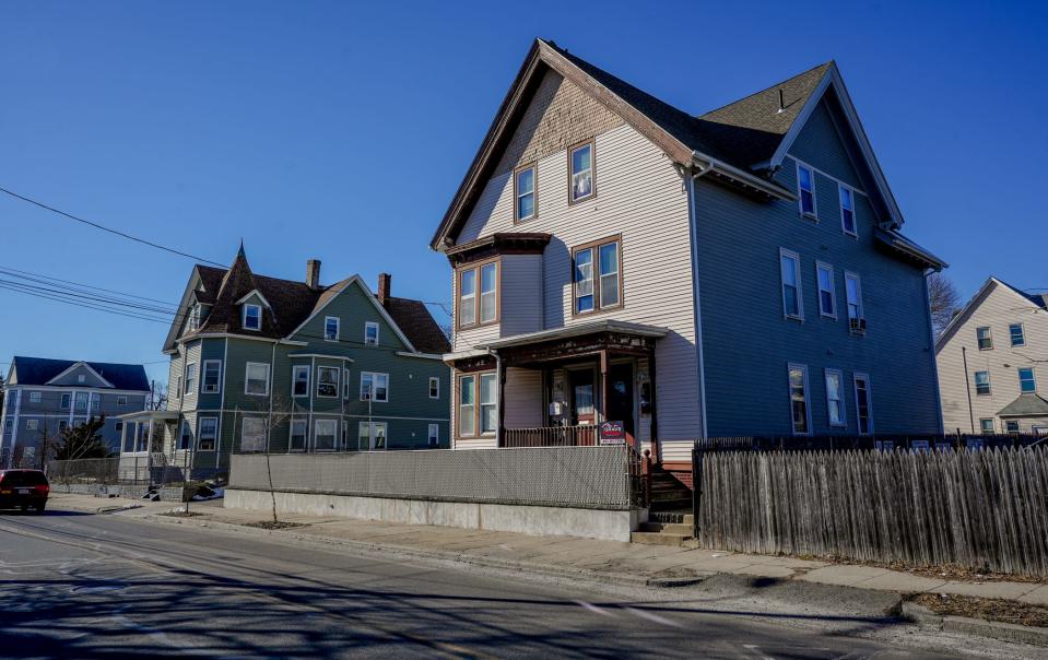
MULTIPOLYGON (((598 320, 501 339, 456 361, 459 374, 494 373, 495 446, 562 447, 625 441, 658 456, 656 342, 666 328, 598 320), (619 438, 602 439, 605 431, 619 438), (616 434, 617 435, 617 434, 616 434)), ((469 376, 466 376, 469 378, 469 376)), ((491 398, 491 392, 481 392, 491 398)), ((482 424, 480 431, 484 431, 482 424)))

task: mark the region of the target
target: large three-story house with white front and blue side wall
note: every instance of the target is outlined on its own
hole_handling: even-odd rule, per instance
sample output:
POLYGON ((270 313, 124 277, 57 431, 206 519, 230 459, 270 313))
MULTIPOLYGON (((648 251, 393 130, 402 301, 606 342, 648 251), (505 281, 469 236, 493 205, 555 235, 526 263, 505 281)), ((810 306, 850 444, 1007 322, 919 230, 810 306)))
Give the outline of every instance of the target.
POLYGON ((693 115, 538 39, 431 241, 452 447, 937 433, 903 227, 834 62, 693 115))

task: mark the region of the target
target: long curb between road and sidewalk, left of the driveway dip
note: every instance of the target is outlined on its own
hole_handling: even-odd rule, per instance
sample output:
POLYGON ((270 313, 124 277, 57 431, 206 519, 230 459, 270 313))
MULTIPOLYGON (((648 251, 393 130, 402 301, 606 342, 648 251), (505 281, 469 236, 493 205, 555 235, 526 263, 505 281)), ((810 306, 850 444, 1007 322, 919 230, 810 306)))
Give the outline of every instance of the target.
POLYGON ((235 522, 222 522, 219 520, 193 520, 191 518, 172 518, 169 516, 162 516, 160 514, 150 514, 141 517, 144 520, 151 520, 154 522, 161 522, 164 525, 192 525, 195 527, 207 528, 215 527, 225 529, 228 531, 234 531, 238 533, 247 533, 255 535, 270 535, 279 537, 283 539, 293 539, 296 541, 305 541, 311 543, 322 543, 322 544, 333 544, 333 545, 343 545, 349 547, 355 547, 358 550, 364 550, 374 553, 397 553, 402 556, 408 556, 417 559, 437 559, 441 562, 454 562, 456 564, 466 564, 469 566, 480 566, 484 568, 495 568, 498 570, 509 570, 509 571, 528 571, 532 574, 542 575, 545 577, 552 577, 556 579, 569 579, 569 580, 587 580, 599 582, 602 585, 611 585, 619 587, 648 587, 655 589, 672 589, 680 587, 691 587, 698 585, 705 581, 708 577, 716 575, 709 574, 704 576, 695 577, 684 577, 684 578, 659 578, 659 577, 640 577, 640 576, 631 576, 623 575, 621 573, 603 573, 600 570, 591 570, 588 568, 563 568, 550 566, 546 564, 535 564, 532 562, 520 562, 515 559, 498 559, 495 557, 480 557, 480 556, 470 556, 459 552, 454 551, 440 551, 440 550, 417 550, 414 547, 405 547, 403 545, 388 545, 384 543, 372 543, 368 541, 355 541, 349 539, 338 539, 335 537, 323 537, 317 534, 303 534, 297 533, 293 530, 269 530, 261 528, 250 528, 243 525, 237 525, 235 522))

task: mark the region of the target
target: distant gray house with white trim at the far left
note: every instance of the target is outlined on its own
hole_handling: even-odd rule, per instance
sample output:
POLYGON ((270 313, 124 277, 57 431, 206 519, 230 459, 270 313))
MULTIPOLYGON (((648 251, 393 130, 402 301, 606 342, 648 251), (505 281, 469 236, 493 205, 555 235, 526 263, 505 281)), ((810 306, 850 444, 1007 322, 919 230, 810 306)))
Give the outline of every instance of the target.
POLYGON ((0 453, 5 464, 33 464, 68 426, 103 414, 102 437, 118 452, 123 433, 118 415, 145 410, 150 397, 142 365, 22 355, 11 361, 4 389, 0 453))

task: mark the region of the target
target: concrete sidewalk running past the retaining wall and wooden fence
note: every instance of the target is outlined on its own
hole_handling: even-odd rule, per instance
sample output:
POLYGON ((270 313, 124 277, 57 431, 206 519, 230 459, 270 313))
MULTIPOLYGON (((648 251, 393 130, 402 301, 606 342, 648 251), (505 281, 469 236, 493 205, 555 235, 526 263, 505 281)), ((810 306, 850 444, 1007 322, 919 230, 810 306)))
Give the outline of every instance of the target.
MULTIPOLYGON (((111 507, 133 502, 68 494, 52 494, 51 498, 55 506, 91 511, 102 506, 111 507)), ((143 506, 121 515, 192 525, 243 526, 247 522, 268 519, 261 511, 223 508, 221 499, 192 503, 190 505, 192 510, 200 515, 191 518, 157 516, 178 506, 173 503, 139 502, 138 504, 143 506)), ((886 568, 792 557, 641 545, 572 537, 530 537, 510 532, 399 525, 341 517, 320 518, 285 514, 280 519, 301 527, 271 530, 268 533, 363 545, 369 550, 389 550, 495 567, 516 567, 565 577, 594 577, 602 581, 629 585, 679 586, 715 574, 729 574, 900 593, 931 592, 999 598, 1048 605, 1048 584, 1043 582, 932 579, 886 568)))

